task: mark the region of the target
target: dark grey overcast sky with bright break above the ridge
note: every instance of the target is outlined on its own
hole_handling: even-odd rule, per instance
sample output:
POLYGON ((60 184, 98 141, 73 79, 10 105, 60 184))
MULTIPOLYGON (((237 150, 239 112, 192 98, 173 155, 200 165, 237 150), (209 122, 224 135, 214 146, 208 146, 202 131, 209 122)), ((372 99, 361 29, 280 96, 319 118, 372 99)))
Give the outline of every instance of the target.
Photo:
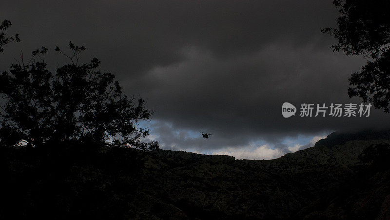
POLYGON ((332 131, 389 124, 373 108, 364 118, 299 117, 303 103, 362 103, 348 98, 348 78, 366 60, 332 52, 336 40, 320 33, 336 25, 331 2, 2 1, 0 19, 22 41, 5 47, 0 67, 42 45, 56 66, 64 60, 53 49, 72 40, 87 47, 85 61, 99 58, 126 94, 156 109, 145 125, 162 148, 277 158, 332 131), (282 117, 283 102, 296 116, 282 117))

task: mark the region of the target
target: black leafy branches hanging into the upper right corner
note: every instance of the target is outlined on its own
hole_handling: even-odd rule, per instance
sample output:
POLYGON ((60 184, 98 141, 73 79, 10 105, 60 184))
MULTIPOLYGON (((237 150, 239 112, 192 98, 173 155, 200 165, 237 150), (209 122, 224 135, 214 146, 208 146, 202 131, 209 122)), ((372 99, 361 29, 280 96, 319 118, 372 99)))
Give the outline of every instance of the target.
POLYGON ((370 101, 376 108, 390 112, 390 2, 387 0, 334 0, 339 8, 338 29, 324 33, 338 40, 333 51, 346 55, 363 54, 370 58, 362 71, 350 79, 349 97, 370 101))

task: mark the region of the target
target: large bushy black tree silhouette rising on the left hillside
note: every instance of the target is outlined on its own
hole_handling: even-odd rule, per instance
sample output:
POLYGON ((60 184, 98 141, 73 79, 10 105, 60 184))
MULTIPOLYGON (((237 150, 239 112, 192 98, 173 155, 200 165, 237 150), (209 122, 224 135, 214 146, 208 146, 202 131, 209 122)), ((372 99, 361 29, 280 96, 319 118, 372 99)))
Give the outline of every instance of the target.
POLYGON ((148 129, 138 127, 138 120, 150 120, 153 111, 145 109, 141 98, 122 94, 111 73, 100 72, 96 58, 79 65, 84 46, 69 42, 70 59, 52 74, 45 63, 47 49, 33 51, 28 63, 23 58, 0 75, 0 139, 28 146, 49 142, 84 141, 111 146, 158 149, 158 143, 144 143, 148 129), (36 61, 38 60, 38 61, 36 61))

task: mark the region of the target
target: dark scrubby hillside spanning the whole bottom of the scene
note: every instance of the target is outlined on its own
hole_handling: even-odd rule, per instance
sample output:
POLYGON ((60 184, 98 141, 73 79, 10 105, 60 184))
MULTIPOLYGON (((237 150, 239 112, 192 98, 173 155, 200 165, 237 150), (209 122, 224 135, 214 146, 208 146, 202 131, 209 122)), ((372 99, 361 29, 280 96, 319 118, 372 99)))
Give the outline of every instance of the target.
POLYGON ((317 144, 276 160, 1 149, 0 219, 390 219, 388 143, 317 144))

